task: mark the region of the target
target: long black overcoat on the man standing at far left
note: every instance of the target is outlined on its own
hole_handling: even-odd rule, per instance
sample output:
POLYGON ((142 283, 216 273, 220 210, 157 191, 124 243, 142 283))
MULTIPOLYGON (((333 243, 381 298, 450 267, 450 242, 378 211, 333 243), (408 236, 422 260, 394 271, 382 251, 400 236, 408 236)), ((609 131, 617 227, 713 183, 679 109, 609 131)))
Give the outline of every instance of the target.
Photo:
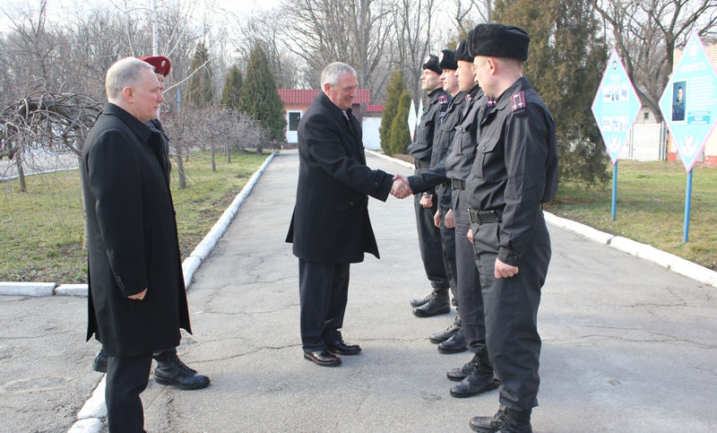
POLYGON ((108 103, 82 152, 89 325, 109 356, 176 347, 191 333, 160 134, 108 103), (147 289, 143 300, 128 296, 147 289))

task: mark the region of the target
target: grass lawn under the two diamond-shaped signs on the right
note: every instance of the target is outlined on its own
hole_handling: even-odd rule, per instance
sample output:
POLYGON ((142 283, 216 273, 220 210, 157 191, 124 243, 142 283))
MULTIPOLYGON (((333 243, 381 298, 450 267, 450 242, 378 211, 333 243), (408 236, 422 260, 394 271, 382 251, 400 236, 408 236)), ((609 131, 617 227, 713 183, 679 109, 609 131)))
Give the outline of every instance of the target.
POLYGON ((561 183, 556 203, 546 210, 717 270, 717 169, 693 171, 687 244, 682 242, 686 190, 687 172, 681 162, 621 160, 617 221, 610 214, 611 181, 591 189, 561 183))

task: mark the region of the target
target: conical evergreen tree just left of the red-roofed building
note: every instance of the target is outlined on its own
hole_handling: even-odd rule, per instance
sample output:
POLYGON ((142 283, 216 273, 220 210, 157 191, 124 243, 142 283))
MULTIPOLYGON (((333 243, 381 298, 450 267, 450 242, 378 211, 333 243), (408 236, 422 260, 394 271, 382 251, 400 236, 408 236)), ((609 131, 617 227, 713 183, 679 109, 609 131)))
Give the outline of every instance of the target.
POLYGON ((269 59, 259 45, 249 55, 246 85, 239 91, 239 109, 263 123, 270 140, 284 140, 286 113, 281 102, 269 59), (251 83, 251 84, 248 84, 251 83))

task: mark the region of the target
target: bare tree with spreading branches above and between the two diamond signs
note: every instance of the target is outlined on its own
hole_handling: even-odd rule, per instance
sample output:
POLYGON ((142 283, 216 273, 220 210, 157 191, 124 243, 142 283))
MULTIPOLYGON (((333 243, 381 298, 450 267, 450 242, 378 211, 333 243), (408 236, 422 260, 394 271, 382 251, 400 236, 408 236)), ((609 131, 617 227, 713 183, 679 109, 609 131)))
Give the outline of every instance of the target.
POLYGON ((693 31, 717 34, 714 0, 592 0, 612 31, 618 52, 640 100, 661 120, 658 107, 672 74, 675 48, 693 31))

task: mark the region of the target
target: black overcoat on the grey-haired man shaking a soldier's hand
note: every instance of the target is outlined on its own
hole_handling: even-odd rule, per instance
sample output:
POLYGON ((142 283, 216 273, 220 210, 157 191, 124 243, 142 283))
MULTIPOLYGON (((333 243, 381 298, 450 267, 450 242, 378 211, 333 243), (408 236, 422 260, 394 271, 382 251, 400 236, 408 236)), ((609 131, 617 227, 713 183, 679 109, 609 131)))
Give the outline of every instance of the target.
POLYGON ((299 258, 346 264, 378 255, 368 197, 385 201, 393 177, 366 166, 361 126, 319 92, 298 123, 297 202, 286 241, 299 258))

